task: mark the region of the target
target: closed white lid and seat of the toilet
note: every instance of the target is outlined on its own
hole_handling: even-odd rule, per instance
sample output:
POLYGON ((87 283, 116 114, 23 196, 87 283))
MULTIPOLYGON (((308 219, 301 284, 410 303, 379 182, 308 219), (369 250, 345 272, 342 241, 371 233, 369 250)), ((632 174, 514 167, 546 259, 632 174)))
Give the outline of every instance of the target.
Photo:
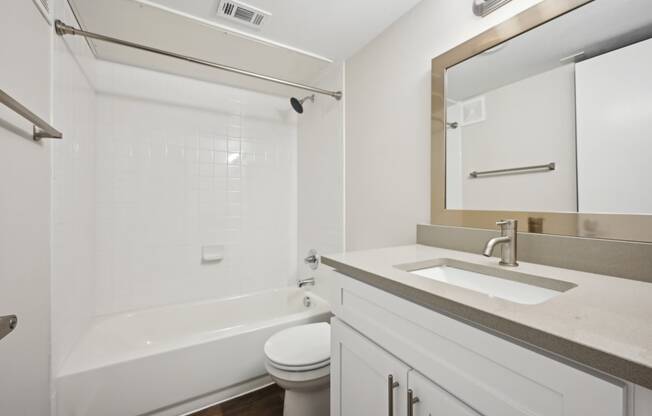
POLYGON ((331 326, 320 322, 277 332, 265 343, 265 355, 282 367, 327 365, 331 356, 331 326))

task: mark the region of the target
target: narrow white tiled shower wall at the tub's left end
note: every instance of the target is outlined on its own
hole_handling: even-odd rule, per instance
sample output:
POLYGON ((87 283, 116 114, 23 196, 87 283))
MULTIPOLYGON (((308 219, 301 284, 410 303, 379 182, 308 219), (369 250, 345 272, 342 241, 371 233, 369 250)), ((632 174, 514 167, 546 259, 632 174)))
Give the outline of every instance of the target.
MULTIPOLYGON (((55 14, 75 21, 67 2, 55 14)), ((54 37, 52 145, 52 369, 57 374, 94 313, 95 58, 79 37, 54 37)))

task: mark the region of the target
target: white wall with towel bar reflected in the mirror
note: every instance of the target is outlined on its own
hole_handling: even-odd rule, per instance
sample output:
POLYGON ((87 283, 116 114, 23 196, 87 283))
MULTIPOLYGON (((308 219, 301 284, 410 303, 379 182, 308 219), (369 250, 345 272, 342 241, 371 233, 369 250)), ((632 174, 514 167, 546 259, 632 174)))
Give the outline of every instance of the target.
POLYGON ((483 94, 485 120, 457 129, 463 201, 455 206, 447 200, 448 208, 577 211, 574 78, 573 65, 565 65, 483 94), (554 171, 469 176, 550 162, 554 171))

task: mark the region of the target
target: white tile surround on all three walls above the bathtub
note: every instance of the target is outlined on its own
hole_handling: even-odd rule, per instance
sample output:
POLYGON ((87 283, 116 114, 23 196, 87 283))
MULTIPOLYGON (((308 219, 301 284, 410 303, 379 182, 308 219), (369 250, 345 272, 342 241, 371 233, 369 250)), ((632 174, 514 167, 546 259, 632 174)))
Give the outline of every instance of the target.
MULTIPOLYGON (((54 48, 53 121, 66 134, 52 146, 54 374, 97 315, 293 285, 297 240, 339 251, 342 208, 315 205, 309 186, 316 175, 342 196, 338 102, 318 99, 297 132, 284 97, 97 61, 81 38, 54 48), (328 159, 328 177, 298 157, 328 159), (224 244, 226 259, 200 264, 203 244, 224 244)), ((342 69, 319 82, 341 86, 342 69)))

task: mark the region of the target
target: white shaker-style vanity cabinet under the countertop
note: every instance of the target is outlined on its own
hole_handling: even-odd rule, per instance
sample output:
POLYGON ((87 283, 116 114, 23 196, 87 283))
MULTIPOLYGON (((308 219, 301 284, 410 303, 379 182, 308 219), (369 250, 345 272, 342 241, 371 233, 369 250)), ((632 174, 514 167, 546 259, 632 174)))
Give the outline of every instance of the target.
POLYGON ((634 414, 620 380, 331 273, 333 416, 407 416, 408 389, 414 415, 634 414))

